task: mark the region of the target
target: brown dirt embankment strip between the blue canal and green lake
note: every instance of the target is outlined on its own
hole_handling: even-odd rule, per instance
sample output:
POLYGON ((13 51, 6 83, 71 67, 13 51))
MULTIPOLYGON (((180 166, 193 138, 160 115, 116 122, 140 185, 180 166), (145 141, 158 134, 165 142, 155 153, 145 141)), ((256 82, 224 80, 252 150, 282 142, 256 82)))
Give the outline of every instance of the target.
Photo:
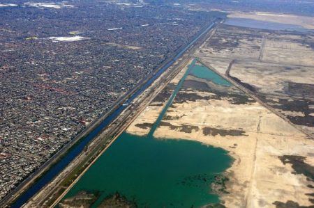
MULTIPOLYGON (((202 35, 203 34, 204 33, 202 33, 202 35)), ((135 99, 135 101, 132 104, 130 104, 128 108, 123 113, 121 113, 121 115, 119 115, 119 118, 117 118, 117 120, 114 120, 114 122, 112 122, 113 124, 108 128, 109 129, 108 131, 104 131, 102 135, 98 136, 98 138, 96 138, 95 141, 91 145, 89 145, 89 148, 88 148, 89 152, 87 153, 88 155, 81 154, 80 157, 77 157, 77 159, 73 161, 73 165, 71 167, 69 166, 67 168, 68 170, 64 170, 63 173, 61 173, 58 176, 59 178, 54 179, 54 181, 50 183, 50 185, 47 186, 45 190, 40 191, 40 193, 38 193, 38 195, 36 195, 36 197, 33 198, 33 200, 27 204, 28 205, 27 207, 38 207, 38 206, 48 207, 48 205, 50 205, 50 207, 54 207, 55 205, 57 205, 57 202, 59 202, 59 200, 61 200, 63 196, 66 195, 67 191, 70 190, 70 188, 75 184, 75 182, 77 182, 77 180, 80 179, 82 175, 84 175, 85 171, 88 170, 88 168, 92 165, 92 163, 94 163, 94 161, 96 161, 96 159, 101 154, 103 154, 105 150, 107 150, 107 147, 109 147, 110 144, 113 143, 114 140, 119 136, 119 134, 121 134, 121 132, 123 132, 124 129, 126 129, 128 125, 130 125, 130 123, 133 122, 133 120, 137 117, 137 115, 139 115, 144 110, 144 108, 149 104, 149 102, 151 102, 151 100, 154 99, 156 95, 158 95, 158 93, 167 85, 167 83, 171 81, 177 75, 177 73, 179 73, 182 70, 182 68, 190 60, 190 54, 194 54, 195 49, 200 47, 200 43, 202 43, 209 34, 210 33, 207 33, 207 35, 204 35, 204 38, 200 38, 201 40, 198 41, 192 47, 192 49, 188 49, 188 52, 185 53, 183 56, 181 57, 178 56, 177 58, 179 59, 179 61, 176 61, 172 65, 172 67, 170 67, 165 73, 162 74, 162 76, 158 78, 159 80, 154 82, 149 88, 147 88, 147 90, 144 93, 139 95, 139 97, 137 97, 137 99, 135 99), (114 138, 112 138, 110 141, 106 141, 104 138, 106 138, 108 135, 114 135, 114 138), (109 144, 107 145, 105 144, 103 146, 102 143, 109 143, 109 144), (100 151, 95 150, 97 149, 97 147, 100 147, 98 148, 100 151), (95 157, 95 155, 97 156, 95 157), (86 162, 84 161, 84 158, 91 158, 92 161, 86 162), (75 167, 84 166, 83 163, 85 165, 88 163, 89 166, 87 166, 87 168, 84 168, 82 173, 76 173, 76 172, 75 174, 73 172, 71 173, 72 170, 75 171, 75 167), (61 186, 61 184, 64 182, 63 179, 66 178, 67 175, 79 175, 79 176, 74 179, 74 181, 66 188, 65 191, 63 191, 61 195, 58 195, 58 191, 60 189, 65 188, 61 186), (57 193, 57 196, 55 195, 56 193, 57 193), (45 198, 45 196, 47 195, 48 196, 53 195, 53 197, 47 199, 45 198)))

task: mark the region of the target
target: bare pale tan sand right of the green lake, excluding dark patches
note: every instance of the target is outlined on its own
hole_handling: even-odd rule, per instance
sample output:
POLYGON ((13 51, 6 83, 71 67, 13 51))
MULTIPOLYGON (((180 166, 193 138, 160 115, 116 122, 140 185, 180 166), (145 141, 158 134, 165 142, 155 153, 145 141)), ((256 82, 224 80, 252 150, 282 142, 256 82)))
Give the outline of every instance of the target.
POLYGON ((246 203, 251 203, 247 207, 260 207, 261 202, 271 207, 275 201, 287 200, 311 205, 305 195, 311 193, 306 177, 293 175, 292 168, 283 165, 278 156, 311 156, 313 141, 259 104, 232 106, 226 101, 208 102, 207 105, 200 102, 177 104, 176 108, 170 109, 174 110, 171 114, 183 111, 186 114, 190 112, 190 116, 167 122, 172 125, 196 125, 200 129, 241 129, 246 136, 205 136, 202 131, 185 133, 169 127, 160 127, 155 136, 190 139, 230 151, 235 161, 227 171, 230 175, 227 191, 230 194, 222 198, 226 207, 245 207, 246 203), (202 119, 195 122, 195 118, 202 119))

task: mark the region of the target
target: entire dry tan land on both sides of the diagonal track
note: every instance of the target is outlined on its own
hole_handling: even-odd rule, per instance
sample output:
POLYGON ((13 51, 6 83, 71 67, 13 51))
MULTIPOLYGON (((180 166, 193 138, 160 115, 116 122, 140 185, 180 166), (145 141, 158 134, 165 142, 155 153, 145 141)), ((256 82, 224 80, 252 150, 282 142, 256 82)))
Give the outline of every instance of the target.
MULTIPOLYGON (((229 193, 221 194, 225 207, 314 205, 313 36, 305 43, 298 37, 300 34, 221 26, 195 53, 221 74, 232 63, 230 79, 290 122, 234 85, 220 86, 188 75, 154 133, 157 139, 199 141, 230 152, 234 162, 226 173, 229 193), (279 47, 271 53, 280 58, 268 61, 268 48, 274 50, 282 42, 299 47, 291 47, 292 52, 283 56, 279 47), (299 63, 293 63, 293 50, 306 51, 299 63)), ((128 133, 148 134, 186 69, 144 109, 128 133)))

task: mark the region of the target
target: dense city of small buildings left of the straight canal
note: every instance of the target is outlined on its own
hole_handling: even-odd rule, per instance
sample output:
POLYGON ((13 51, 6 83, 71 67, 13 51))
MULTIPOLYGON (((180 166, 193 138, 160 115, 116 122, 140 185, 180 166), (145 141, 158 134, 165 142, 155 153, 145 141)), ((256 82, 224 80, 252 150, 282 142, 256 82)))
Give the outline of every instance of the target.
POLYGON ((213 19, 144 1, 1 2, 0 199, 213 19))

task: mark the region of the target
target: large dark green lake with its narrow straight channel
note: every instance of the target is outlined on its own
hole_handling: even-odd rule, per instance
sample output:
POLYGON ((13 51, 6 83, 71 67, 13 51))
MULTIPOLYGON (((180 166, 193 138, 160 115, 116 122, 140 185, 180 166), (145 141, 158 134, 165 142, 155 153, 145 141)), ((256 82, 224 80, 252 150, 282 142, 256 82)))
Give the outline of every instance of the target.
MULTIPOLYGON (((179 81, 149 134, 121 134, 65 198, 81 191, 97 193, 98 198, 91 207, 98 207, 115 193, 135 202, 137 207, 202 207, 219 202, 218 195, 211 193, 211 183, 230 167, 232 158, 227 152, 195 141, 153 136, 186 76, 201 67, 195 62, 196 59, 179 81)), ((204 70, 201 74, 207 76, 204 70)), ((207 69, 207 72, 212 71, 207 69)), ((212 74, 210 77, 218 79, 212 74)))

